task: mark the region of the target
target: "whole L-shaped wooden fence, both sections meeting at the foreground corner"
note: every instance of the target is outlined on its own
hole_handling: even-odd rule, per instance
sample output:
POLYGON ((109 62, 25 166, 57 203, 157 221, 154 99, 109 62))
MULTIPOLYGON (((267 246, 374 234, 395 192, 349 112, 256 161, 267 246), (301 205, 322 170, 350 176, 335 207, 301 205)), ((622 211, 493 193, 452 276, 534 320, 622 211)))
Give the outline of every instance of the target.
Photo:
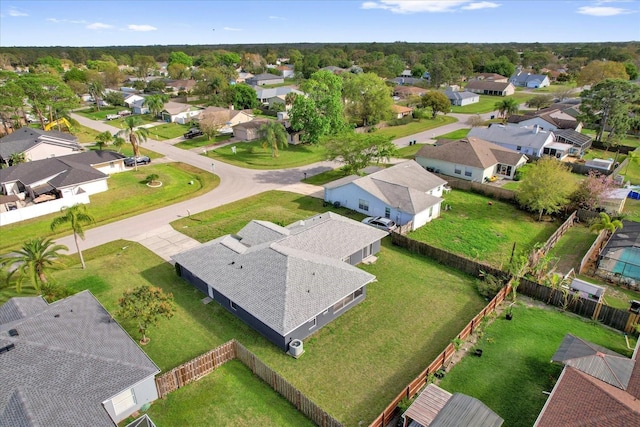
POLYGON ((342 427, 342 424, 292 386, 276 371, 236 340, 228 341, 187 363, 156 377, 159 397, 199 380, 230 360, 238 359, 255 375, 287 399, 298 411, 320 427, 342 427))

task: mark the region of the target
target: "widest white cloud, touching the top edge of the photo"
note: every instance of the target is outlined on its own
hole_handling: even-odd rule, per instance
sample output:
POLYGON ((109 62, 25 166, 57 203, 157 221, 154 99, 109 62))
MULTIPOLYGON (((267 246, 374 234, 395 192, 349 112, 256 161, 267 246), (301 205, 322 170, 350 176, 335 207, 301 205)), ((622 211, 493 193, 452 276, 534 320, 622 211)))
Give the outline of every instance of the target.
POLYGON ((383 9, 393 13, 454 12, 459 9, 477 10, 498 6, 500 5, 494 2, 470 0, 377 0, 365 1, 361 5, 362 9, 383 9))

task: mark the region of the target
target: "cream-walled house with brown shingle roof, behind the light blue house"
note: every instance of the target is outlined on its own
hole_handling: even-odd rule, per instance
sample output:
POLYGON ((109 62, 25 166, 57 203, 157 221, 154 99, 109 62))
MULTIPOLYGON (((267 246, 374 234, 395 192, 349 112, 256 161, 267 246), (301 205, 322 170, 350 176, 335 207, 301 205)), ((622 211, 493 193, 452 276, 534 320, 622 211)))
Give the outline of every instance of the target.
POLYGON ((513 179, 516 169, 527 163, 527 156, 479 138, 467 137, 424 145, 416 153, 416 162, 429 172, 485 182, 493 176, 513 179))

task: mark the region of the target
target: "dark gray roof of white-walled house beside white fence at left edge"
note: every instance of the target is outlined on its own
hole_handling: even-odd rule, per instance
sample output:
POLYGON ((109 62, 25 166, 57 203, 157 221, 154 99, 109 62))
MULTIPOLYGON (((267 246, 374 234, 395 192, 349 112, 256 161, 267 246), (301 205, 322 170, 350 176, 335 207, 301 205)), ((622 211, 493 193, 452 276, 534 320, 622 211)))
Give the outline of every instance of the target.
POLYGON ((92 150, 20 163, 6 169, 0 169, 0 182, 20 181, 25 185, 31 185, 47 179, 56 188, 78 185, 83 182, 104 179, 108 176, 94 169, 92 165, 120 160, 124 157, 114 151, 92 150))

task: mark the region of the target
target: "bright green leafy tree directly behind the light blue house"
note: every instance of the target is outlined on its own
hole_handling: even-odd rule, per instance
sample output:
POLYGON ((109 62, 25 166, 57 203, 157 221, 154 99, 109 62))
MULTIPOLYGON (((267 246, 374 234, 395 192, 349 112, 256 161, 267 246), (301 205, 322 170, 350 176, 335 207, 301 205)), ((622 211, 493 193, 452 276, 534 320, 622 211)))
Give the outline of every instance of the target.
POLYGON ((344 163, 348 174, 358 174, 372 162, 388 161, 396 153, 391 137, 375 133, 343 132, 324 141, 327 159, 344 163))

